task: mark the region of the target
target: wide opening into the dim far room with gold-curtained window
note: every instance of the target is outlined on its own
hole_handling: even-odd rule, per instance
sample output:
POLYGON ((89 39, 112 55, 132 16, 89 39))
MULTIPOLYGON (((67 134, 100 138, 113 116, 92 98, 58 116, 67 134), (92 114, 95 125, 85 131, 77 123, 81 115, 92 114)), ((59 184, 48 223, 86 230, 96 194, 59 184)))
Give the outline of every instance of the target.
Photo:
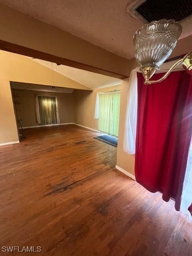
POLYGON ((26 128, 73 123, 71 88, 10 82, 20 141, 26 128))

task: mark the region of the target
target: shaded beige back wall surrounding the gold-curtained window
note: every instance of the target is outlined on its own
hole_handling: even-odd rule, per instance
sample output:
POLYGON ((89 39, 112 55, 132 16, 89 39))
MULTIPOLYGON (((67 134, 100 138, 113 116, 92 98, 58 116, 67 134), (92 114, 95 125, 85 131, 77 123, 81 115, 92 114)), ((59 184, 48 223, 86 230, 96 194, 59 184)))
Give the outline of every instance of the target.
POLYGON ((73 102, 71 93, 41 92, 34 90, 12 89, 17 118, 22 119, 22 126, 38 126, 36 118, 36 95, 57 96, 60 123, 73 122, 73 102))

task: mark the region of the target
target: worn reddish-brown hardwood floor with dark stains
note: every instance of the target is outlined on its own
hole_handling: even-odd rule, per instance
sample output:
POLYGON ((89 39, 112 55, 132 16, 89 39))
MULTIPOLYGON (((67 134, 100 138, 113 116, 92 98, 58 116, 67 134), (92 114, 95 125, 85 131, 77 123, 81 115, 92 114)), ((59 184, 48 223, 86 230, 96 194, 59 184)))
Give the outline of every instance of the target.
MULTIPOLYGON (((44 256, 192 256, 192 222, 115 169, 116 148, 75 125, 0 147, 0 247, 44 256)), ((28 255, 23 252, 0 255, 28 255)))

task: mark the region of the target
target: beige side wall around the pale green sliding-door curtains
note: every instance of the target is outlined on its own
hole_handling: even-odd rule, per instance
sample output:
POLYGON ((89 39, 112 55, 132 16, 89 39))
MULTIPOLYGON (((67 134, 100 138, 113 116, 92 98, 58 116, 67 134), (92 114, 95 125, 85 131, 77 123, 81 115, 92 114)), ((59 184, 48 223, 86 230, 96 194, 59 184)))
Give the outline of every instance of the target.
POLYGON ((94 118, 97 92, 120 90, 121 85, 100 88, 93 92, 75 90, 74 96, 74 123, 98 130, 98 119, 94 118))

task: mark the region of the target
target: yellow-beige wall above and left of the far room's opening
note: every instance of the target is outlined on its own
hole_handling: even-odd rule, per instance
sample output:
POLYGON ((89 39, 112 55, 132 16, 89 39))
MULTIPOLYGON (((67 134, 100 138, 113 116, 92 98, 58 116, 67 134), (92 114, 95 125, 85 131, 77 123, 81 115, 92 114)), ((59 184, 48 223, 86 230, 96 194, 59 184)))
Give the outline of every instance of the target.
POLYGON ((10 81, 90 90, 25 56, 0 51, 0 144, 18 141, 10 81))

